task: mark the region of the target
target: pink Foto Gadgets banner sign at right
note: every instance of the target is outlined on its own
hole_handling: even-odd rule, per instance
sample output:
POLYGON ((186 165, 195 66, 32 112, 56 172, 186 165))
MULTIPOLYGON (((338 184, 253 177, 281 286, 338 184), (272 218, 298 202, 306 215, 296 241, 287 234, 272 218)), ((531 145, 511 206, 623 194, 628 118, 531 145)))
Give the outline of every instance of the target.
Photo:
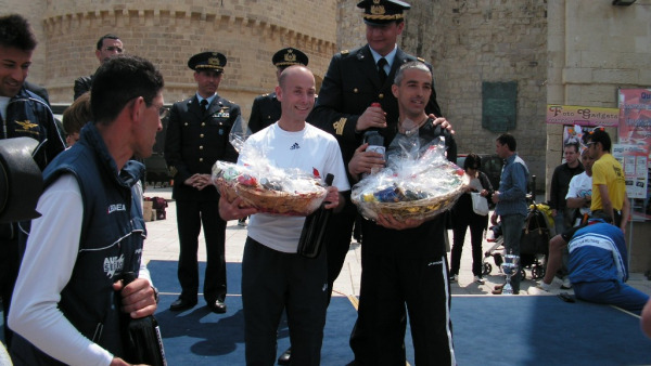
POLYGON ((547 123, 617 127, 620 109, 548 104, 547 123))

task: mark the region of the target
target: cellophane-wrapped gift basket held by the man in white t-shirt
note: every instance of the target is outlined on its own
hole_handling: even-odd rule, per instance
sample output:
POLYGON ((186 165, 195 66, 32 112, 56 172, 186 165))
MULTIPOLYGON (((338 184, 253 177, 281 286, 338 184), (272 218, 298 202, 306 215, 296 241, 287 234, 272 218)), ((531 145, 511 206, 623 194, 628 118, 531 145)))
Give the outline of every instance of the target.
POLYGON ((242 146, 235 149, 244 165, 213 166, 213 183, 229 202, 241 197, 246 206, 280 215, 308 215, 319 208, 328 193, 319 172, 278 168, 261 152, 242 152, 242 146))

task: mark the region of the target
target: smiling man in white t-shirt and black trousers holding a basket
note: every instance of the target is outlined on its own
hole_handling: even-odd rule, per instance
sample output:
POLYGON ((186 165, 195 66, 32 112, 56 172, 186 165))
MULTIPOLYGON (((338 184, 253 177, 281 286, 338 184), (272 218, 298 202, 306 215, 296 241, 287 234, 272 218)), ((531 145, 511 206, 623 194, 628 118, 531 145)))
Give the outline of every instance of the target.
MULTIPOLYGON (((332 173, 326 208, 336 210, 344 205, 340 192, 350 186, 334 136, 305 122, 315 93, 315 78, 308 68, 288 67, 276 87, 280 119, 246 140, 238 164, 255 166, 256 161, 247 160, 250 152, 264 152, 278 168, 298 168, 310 174, 318 171, 320 177, 332 173)), ((225 196, 219 200, 224 220, 252 215, 242 259, 246 364, 275 364, 277 329, 286 310, 292 364, 318 365, 329 295, 326 252, 314 259, 297 253, 305 218, 258 213, 242 205, 241 198, 230 204, 225 196)))

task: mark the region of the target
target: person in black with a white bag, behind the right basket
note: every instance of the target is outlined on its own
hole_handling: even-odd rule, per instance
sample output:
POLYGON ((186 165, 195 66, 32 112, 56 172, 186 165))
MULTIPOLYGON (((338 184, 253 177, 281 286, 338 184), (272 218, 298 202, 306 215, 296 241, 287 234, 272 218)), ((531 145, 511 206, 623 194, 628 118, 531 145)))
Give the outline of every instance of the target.
POLYGON ((493 194, 493 186, 488 177, 480 168, 482 167, 482 159, 476 154, 468 154, 463 161, 463 185, 465 193, 459 197, 459 200, 455 204, 451 210, 452 228, 454 228, 454 244, 450 257, 450 280, 456 282, 459 277, 459 267, 461 263, 461 252, 463 250, 463 241, 465 239, 465 232, 470 226, 470 237, 472 243, 472 273, 474 274, 474 282, 477 284, 484 284, 482 276, 483 266, 482 258, 484 252, 482 251, 482 240, 484 239, 484 230, 488 226, 488 215, 481 215, 473 211, 471 192, 480 193, 485 199, 489 199, 493 194))

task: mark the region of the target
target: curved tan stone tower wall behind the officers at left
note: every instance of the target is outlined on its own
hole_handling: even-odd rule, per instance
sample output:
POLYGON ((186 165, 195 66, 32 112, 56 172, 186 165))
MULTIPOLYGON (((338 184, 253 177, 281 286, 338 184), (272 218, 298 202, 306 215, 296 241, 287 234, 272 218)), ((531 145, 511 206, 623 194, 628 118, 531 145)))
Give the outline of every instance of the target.
POLYGON ((146 57, 165 76, 167 102, 192 95, 195 83, 188 58, 215 50, 228 58, 220 95, 234 101, 247 117, 253 99, 273 90, 273 53, 296 47, 310 57, 321 79, 335 51, 335 2, 290 0, 266 3, 252 0, 159 1, 48 1, 42 16, 46 30, 46 84, 52 100, 71 102, 73 81, 99 66, 97 40, 117 34, 127 53, 146 57))

